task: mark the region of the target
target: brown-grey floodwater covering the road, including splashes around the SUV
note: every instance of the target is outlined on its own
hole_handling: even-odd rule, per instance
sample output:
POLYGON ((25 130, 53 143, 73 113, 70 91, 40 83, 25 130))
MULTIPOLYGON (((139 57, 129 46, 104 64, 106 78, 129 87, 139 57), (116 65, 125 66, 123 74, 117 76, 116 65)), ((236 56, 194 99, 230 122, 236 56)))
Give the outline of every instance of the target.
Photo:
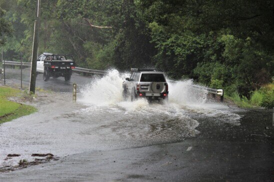
POLYGON ((122 98, 128 74, 111 70, 80 89, 77 103, 70 93, 38 94, 39 111, 0 125, 0 167, 33 160, 32 153, 58 157, 173 143, 199 134, 198 119, 239 125, 240 115, 222 103, 208 103, 207 92, 191 80, 169 82, 169 102, 131 102, 122 98), (39 95, 41 96, 39 99, 39 95), (20 154, 6 159, 7 154, 20 154))

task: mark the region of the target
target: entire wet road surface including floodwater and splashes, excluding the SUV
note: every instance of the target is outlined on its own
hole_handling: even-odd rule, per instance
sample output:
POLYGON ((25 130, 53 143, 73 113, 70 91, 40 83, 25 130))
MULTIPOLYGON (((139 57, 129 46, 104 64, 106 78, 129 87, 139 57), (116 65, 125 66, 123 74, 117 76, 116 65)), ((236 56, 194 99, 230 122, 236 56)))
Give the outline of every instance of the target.
POLYGON ((169 84, 166 105, 124 101, 126 74, 115 70, 103 78, 74 75, 82 87, 73 104, 69 83, 39 76, 36 86, 54 92, 36 93, 30 104, 37 113, 0 125, 0 165, 34 160, 33 153, 59 160, 1 173, 0 182, 273 180, 269 110, 208 102, 206 93, 191 90, 191 80, 169 84), (7 154, 21 156, 4 160, 7 154))

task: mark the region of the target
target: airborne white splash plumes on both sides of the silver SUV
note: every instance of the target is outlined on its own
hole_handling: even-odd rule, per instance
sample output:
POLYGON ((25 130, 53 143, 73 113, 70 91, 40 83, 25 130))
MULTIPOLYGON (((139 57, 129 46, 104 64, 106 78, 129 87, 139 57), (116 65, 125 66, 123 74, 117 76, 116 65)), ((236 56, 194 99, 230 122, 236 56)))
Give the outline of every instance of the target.
MULTIPOLYGON (((81 90, 80 102, 97 106, 119 105, 129 106, 122 98, 122 82, 129 73, 120 74, 117 70, 110 70, 104 77, 95 78, 90 84, 85 85, 81 90)), ((172 81, 168 80, 169 101, 177 104, 204 103, 206 100, 206 90, 195 90, 192 80, 172 81)), ((129 99, 127 100, 129 101, 129 99)), ((129 102, 131 103, 131 102, 129 102)), ((134 105, 146 106, 144 99, 134 102, 134 105)), ((133 107, 138 108, 138 107, 133 107)))

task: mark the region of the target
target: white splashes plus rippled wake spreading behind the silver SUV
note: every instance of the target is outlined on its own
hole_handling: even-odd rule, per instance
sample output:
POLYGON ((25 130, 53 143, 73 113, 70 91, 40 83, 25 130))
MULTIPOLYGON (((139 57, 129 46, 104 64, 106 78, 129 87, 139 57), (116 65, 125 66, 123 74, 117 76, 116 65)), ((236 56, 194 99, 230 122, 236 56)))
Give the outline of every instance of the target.
POLYGON ((72 122, 85 123, 80 135, 93 135, 93 143, 111 145, 118 141, 121 146, 136 147, 197 136, 196 127, 201 118, 239 124, 240 116, 229 112, 224 105, 206 103, 207 91, 195 90, 192 80, 169 80, 167 104, 148 103, 145 99, 125 101, 122 82, 128 76, 111 70, 81 90, 79 101, 89 107, 76 113, 78 120, 71 117, 72 122))

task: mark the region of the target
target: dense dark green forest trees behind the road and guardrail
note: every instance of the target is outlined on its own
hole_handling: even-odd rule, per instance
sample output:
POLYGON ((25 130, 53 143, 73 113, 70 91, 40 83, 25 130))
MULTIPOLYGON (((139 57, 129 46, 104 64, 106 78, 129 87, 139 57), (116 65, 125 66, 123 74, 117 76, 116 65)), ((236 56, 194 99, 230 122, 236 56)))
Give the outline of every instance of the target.
MULTIPOLYGON (((7 59, 30 60, 35 0, 0 0, 7 59), (3 18, 4 17, 4 18, 3 18)), ((249 97, 274 75, 272 0, 42 0, 39 53, 92 69, 161 68, 249 97)))

